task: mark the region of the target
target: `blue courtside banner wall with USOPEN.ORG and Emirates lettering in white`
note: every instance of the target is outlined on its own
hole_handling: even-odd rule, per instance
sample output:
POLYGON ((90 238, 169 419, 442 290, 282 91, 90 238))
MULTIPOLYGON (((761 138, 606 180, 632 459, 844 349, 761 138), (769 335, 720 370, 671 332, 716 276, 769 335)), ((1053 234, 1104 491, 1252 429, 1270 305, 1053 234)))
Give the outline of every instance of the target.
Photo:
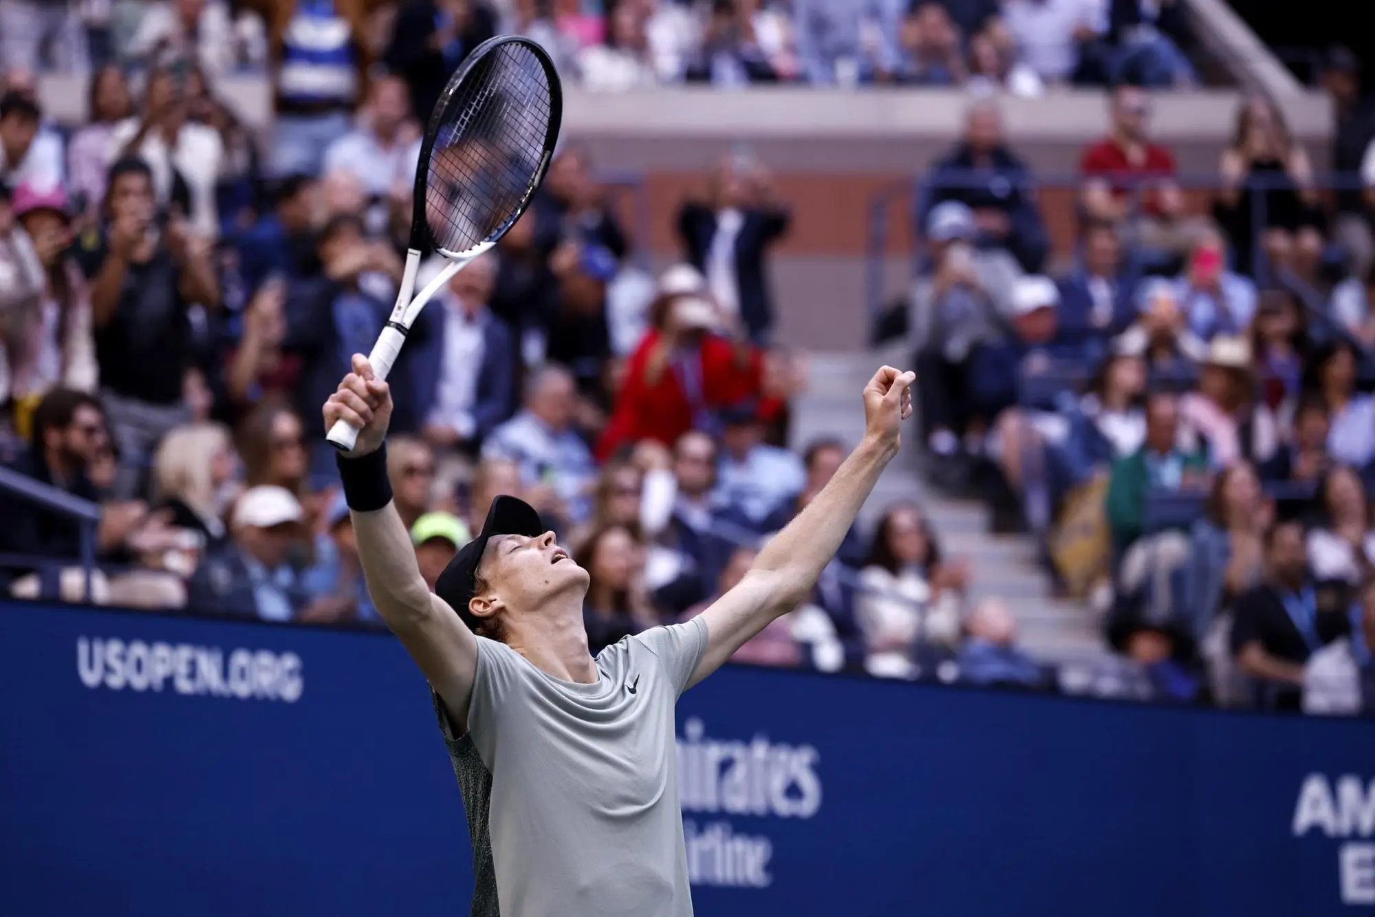
MULTIPOLYGON (((0 604, 0 914, 459 914, 386 635, 0 604)), ((679 704, 704 917, 1375 913, 1368 723, 727 668, 679 704)))

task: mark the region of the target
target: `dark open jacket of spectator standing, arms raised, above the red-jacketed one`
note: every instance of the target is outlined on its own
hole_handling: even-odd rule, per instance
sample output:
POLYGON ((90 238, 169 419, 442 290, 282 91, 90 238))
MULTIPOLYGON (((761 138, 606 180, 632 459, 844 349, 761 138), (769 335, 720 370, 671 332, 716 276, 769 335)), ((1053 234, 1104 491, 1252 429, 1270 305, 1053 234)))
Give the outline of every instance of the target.
MULTIPOLYGON (((788 231, 788 210, 745 210, 745 223, 736 236, 736 283, 740 286, 740 318, 749 337, 762 340, 773 327, 773 291, 764 254, 788 231)), ((707 253, 716 235, 716 212, 700 203, 683 203, 678 212, 678 238, 683 254, 698 271, 707 269, 707 253)))

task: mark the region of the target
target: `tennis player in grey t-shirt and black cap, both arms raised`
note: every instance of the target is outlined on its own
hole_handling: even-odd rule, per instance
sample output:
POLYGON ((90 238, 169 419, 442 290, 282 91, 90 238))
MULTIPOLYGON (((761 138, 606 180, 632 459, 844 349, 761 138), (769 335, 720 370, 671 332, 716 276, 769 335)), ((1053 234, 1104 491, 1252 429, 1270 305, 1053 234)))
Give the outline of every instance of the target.
POLYGON ((473 840, 474 917, 690 917, 674 705, 810 595, 898 452, 912 373, 864 389, 865 436, 736 588, 683 624, 587 649, 587 571, 499 496, 434 594, 392 506, 392 399, 363 356, 324 404, 360 428, 338 459, 378 612, 429 681, 473 840))

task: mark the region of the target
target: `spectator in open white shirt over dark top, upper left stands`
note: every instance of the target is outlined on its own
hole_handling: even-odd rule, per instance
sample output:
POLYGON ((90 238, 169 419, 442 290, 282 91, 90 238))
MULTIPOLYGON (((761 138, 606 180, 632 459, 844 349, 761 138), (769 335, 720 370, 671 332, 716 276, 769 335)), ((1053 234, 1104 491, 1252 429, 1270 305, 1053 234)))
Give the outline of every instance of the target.
POLYGON ((116 125, 116 158, 138 157, 153 176, 158 205, 176 208, 197 232, 214 239, 220 231, 214 188, 224 169, 224 143, 204 124, 188 120, 186 77, 162 69, 148 74, 143 113, 116 125))

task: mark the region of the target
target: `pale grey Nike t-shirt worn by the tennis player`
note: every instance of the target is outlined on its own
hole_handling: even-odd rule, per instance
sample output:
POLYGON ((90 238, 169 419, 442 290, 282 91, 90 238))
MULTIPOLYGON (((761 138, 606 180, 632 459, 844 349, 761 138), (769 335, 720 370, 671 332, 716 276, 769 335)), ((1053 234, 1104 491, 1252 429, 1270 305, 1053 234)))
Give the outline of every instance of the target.
POLYGON ((674 705, 705 646, 700 617, 654 627, 578 685, 477 638, 466 734, 434 698, 473 839, 473 917, 692 917, 674 705))

